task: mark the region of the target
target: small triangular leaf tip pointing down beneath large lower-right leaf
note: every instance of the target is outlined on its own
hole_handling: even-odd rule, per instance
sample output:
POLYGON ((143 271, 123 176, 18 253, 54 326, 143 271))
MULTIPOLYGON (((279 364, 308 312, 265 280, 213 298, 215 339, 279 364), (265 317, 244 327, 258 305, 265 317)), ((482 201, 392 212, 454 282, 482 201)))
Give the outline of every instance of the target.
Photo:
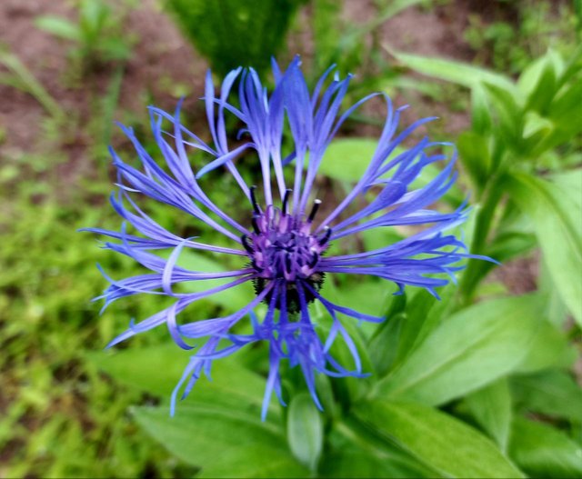
POLYGON ((465 402, 477 423, 506 452, 513 415, 507 378, 467 395, 465 402))

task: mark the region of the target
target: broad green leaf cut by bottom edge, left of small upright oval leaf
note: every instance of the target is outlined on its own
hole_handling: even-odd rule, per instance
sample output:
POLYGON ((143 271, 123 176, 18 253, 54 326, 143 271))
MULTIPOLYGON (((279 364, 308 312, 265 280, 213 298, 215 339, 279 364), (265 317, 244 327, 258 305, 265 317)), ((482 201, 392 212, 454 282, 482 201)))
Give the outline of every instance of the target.
POLYGON ((135 419, 148 434, 206 477, 306 477, 290 454, 281 427, 254 412, 216 404, 185 405, 169 417, 166 407, 138 407, 135 419))

